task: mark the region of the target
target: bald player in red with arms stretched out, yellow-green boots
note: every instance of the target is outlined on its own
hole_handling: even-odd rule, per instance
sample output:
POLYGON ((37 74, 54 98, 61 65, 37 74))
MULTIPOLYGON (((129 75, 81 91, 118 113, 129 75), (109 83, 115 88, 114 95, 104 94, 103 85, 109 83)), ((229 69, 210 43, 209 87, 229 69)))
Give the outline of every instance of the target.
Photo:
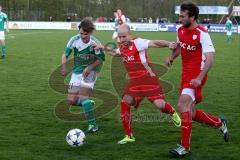
POLYGON ((164 40, 132 38, 130 27, 126 24, 119 27, 118 38, 119 49, 112 50, 110 53, 123 59, 123 64, 130 79, 120 104, 120 115, 126 136, 118 144, 135 141, 132 132, 130 106, 134 106, 137 109, 144 98, 147 98, 160 111, 169 114, 174 124, 180 127, 181 119, 174 108, 165 101, 159 79, 152 70, 147 53, 148 48, 168 47, 174 49, 176 43, 164 40))

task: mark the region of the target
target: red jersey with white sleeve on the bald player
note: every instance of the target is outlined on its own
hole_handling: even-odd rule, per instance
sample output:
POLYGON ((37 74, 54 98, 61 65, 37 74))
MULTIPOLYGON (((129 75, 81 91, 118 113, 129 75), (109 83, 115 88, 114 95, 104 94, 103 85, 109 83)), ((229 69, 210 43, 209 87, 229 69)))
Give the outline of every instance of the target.
POLYGON ((147 39, 136 38, 132 40, 132 45, 129 48, 120 48, 118 51, 131 80, 149 75, 143 65, 150 67, 147 53, 148 43, 147 39))

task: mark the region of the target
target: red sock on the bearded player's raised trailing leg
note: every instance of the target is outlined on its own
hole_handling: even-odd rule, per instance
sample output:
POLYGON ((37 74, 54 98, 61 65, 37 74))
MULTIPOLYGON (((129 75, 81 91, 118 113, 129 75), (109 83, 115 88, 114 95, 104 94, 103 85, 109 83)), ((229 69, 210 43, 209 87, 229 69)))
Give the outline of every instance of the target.
POLYGON ((220 127, 222 125, 221 119, 211 116, 202 110, 196 110, 196 115, 193 118, 194 121, 204 123, 213 127, 220 127))

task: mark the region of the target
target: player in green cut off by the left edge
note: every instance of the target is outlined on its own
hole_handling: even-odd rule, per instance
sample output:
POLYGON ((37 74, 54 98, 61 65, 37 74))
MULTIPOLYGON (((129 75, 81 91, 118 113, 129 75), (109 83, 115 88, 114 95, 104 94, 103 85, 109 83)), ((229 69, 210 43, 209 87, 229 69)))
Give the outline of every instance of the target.
POLYGON ((6 23, 6 31, 8 30, 8 17, 5 13, 2 12, 2 6, 0 5, 0 43, 2 46, 2 59, 6 57, 6 44, 5 44, 5 34, 4 34, 4 26, 6 23))

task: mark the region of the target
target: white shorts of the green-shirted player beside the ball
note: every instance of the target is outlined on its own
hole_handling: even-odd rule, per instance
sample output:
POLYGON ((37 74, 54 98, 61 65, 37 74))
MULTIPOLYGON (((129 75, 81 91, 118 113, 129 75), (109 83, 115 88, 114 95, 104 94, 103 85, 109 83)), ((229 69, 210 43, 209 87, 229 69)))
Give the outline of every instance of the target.
POLYGON ((80 91, 80 88, 93 89, 96 80, 97 73, 95 71, 91 71, 86 78, 83 77, 83 74, 72 73, 71 80, 69 82, 68 92, 78 93, 80 91))

